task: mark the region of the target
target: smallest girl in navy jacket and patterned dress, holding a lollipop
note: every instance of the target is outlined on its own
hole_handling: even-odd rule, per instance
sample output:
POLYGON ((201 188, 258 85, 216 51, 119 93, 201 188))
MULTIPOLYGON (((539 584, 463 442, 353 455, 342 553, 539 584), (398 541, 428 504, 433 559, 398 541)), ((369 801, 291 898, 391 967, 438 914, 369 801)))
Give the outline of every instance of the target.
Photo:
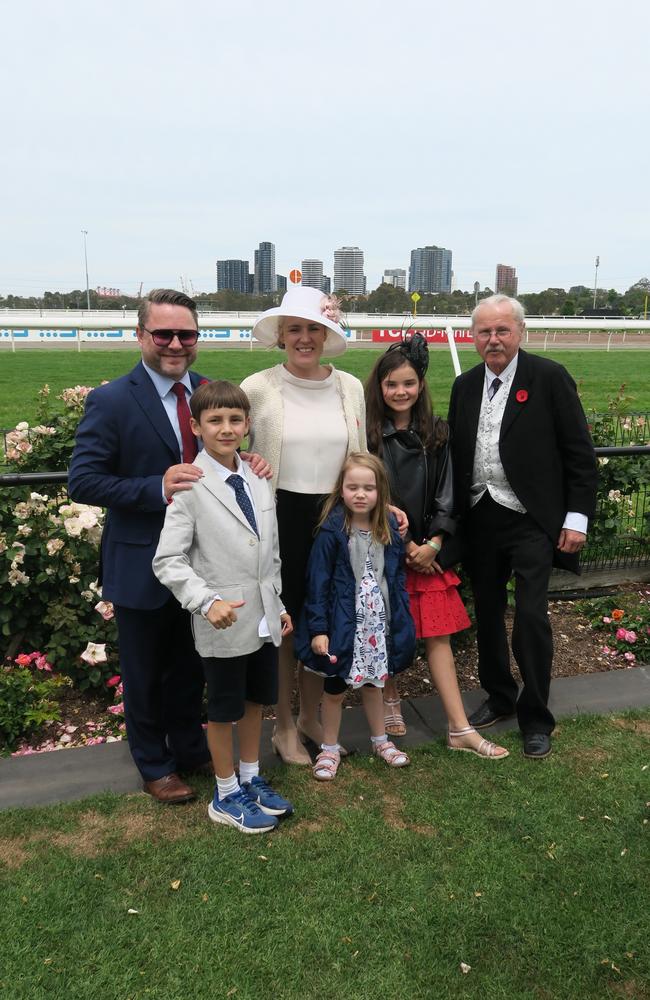
POLYGON ((295 645, 305 667, 325 676, 323 743, 313 767, 318 781, 336 776, 348 688, 361 691, 372 752, 390 767, 410 763, 384 725, 384 684, 410 666, 415 652, 404 548, 388 500, 381 462, 351 454, 325 502, 309 558, 295 645))

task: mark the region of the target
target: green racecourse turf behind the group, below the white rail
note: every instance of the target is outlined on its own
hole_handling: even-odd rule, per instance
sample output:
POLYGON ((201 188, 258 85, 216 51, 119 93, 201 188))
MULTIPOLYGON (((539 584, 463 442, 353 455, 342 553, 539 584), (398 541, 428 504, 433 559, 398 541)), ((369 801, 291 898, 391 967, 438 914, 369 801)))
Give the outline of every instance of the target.
MULTIPOLYGON (((337 359, 338 367, 364 380, 378 357, 376 350, 351 349, 337 359)), ((432 349, 428 380, 437 411, 446 413, 453 381, 451 359, 446 349, 432 349)), ((556 351, 546 357, 563 364, 579 383, 587 410, 604 411, 619 386, 625 383, 633 397, 632 408, 650 410, 650 352, 647 351, 556 351)), ((0 353, 0 428, 20 420, 30 424, 36 417, 36 393, 47 382, 52 395, 72 385, 98 385, 129 371, 139 358, 136 350, 19 350, 0 353)), ((236 348, 204 349, 197 370, 210 378, 240 382, 246 375, 282 358, 278 351, 247 351, 236 348)), ((460 351, 463 369, 479 360, 473 350, 460 351)))

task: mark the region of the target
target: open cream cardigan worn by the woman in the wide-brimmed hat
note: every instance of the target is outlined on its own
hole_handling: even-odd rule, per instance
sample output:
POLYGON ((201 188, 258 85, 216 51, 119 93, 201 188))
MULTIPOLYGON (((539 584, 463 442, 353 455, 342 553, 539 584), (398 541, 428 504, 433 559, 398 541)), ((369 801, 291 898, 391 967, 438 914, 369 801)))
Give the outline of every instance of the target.
MULTIPOLYGON (((282 399, 282 365, 265 368, 249 375, 241 384, 251 404, 250 447, 259 452, 273 469, 273 490, 277 489, 282 461, 284 403, 282 399)), ((343 407, 348 430, 346 454, 367 451, 366 403, 363 386, 358 378, 329 366, 334 372, 337 392, 343 407)))

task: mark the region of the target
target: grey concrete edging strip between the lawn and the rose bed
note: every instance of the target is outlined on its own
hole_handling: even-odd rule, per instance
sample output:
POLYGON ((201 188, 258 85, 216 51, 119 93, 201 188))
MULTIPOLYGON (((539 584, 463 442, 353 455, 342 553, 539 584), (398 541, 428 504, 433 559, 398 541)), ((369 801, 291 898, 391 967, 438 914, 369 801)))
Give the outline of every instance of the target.
MULTIPOLYGON (((463 695, 468 713, 478 707, 483 697, 482 691, 463 695)), ((550 708, 558 719, 647 707, 650 707, 650 667, 560 677, 551 685, 550 708)), ((444 735, 446 720, 439 698, 413 698, 402 702, 402 709, 408 734, 399 741, 401 746, 418 746, 444 735)), ((267 748, 261 760, 264 769, 277 761, 270 752, 271 726, 271 722, 264 723, 262 746, 267 748)), ((509 719, 489 732, 513 728, 514 720, 509 719)), ((361 708, 343 712, 341 742, 350 749, 367 752, 368 734, 361 708)), ((70 802, 103 791, 137 792, 141 787, 126 742, 0 760, 0 810, 70 802)))

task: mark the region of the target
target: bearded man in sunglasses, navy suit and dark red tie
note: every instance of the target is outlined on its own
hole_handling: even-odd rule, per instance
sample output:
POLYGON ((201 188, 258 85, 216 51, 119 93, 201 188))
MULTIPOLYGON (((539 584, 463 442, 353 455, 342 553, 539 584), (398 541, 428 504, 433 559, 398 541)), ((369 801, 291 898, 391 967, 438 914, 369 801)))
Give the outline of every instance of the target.
POLYGON ((126 732, 144 790, 160 802, 194 797, 182 772, 208 770, 201 725, 203 670, 190 615, 153 575, 151 562, 175 493, 203 472, 193 465, 188 399, 199 385, 196 305, 156 289, 138 310, 142 359, 94 389, 69 469, 73 500, 108 508, 102 538, 103 597, 119 634, 126 732))

